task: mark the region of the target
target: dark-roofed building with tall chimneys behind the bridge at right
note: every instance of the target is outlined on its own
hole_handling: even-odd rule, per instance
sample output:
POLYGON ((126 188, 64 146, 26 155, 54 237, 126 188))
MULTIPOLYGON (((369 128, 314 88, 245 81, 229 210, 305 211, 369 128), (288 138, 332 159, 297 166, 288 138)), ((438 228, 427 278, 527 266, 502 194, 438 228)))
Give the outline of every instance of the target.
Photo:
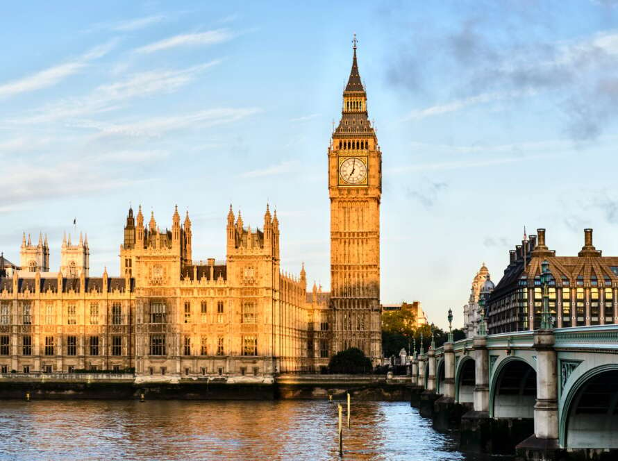
POLYGON ((510 251, 510 262, 487 303, 489 333, 540 328, 543 308, 541 264, 549 262, 549 311, 554 325, 615 324, 618 317, 618 257, 602 256, 584 230, 577 256, 557 256, 545 243, 545 229, 510 251), (538 242, 537 242, 538 237, 538 242))

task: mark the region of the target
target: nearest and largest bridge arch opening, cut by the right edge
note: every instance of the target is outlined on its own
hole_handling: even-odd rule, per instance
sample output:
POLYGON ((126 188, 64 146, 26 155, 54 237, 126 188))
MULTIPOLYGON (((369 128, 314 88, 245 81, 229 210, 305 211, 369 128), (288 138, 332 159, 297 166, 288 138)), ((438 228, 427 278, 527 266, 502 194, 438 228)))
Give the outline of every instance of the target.
POLYGON ((618 449, 618 364, 604 364, 571 385, 560 414, 566 449, 618 449))

